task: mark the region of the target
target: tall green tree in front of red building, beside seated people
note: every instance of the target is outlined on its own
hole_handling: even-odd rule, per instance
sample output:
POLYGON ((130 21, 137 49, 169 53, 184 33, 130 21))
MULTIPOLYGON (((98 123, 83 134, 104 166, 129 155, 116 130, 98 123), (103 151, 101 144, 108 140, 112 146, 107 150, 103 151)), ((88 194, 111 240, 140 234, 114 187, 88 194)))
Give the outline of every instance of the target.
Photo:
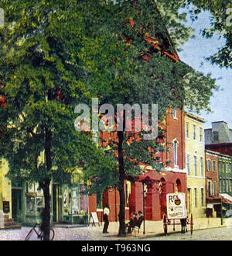
MULTIPOLYGON (((94 80, 106 81, 97 86, 92 84, 92 88, 99 95, 100 104, 110 103, 117 109, 118 104, 138 104, 142 107, 142 104, 151 106, 156 103, 159 106, 159 121, 165 116, 166 109, 182 109, 183 104, 197 111, 208 108, 212 90, 217 86, 210 75, 204 76, 179 61, 165 22, 162 22, 161 12, 154 1, 118 1, 117 5, 108 2, 101 6, 101 10, 107 10, 101 12, 104 25, 100 26, 103 29, 94 31, 96 34, 98 31, 107 34, 102 42, 105 45, 104 60, 101 63, 91 63, 94 64, 91 69, 97 70, 96 77, 101 77, 94 80)), ((174 27, 177 27, 176 23, 174 27)), ((176 33, 178 38, 178 31, 176 33)), ((188 34, 189 29, 186 36, 188 34)), ((88 58, 91 58, 88 48, 83 50, 82 60, 88 63, 88 58)), ((117 115, 120 116, 119 113, 117 115)), ((115 118, 117 125, 118 116, 115 118)), ((125 123, 125 116, 121 122, 125 123)), ((138 133, 139 139, 136 141, 134 135, 126 132, 125 126, 123 130, 116 130, 115 133, 115 140, 108 140, 107 147, 111 154, 114 153, 118 166, 114 164, 112 168, 107 167, 107 171, 105 168, 94 168, 95 172, 89 168, 86 175, 87 178, 93 178, 92 189, 97 190, 99 184, 104 186, 101 189, 106 189, 107 186, 110 187, 110 182, 111 186, 118 189, 118 236, 125 236, 125 179, 142 172, 139 166, 141 162, 152 165, 159 171, 162 164, 159 157, 155 157, 155 153, 161 147, 156 140, 143 140, 138 133), (134 139, 130 140, 130 137, 134 139), (107 178, 109 175, 114 179, 107 178)))

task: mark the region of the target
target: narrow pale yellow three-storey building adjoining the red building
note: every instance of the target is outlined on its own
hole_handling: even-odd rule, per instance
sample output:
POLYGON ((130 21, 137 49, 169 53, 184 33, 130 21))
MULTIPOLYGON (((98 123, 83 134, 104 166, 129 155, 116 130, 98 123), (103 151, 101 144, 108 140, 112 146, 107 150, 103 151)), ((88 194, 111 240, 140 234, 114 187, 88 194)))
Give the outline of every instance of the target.
POLYGON ((187 173, 187 211, 194 218, 206 215, 206 173, 204 120, 185 113, 185 154, 187 173))

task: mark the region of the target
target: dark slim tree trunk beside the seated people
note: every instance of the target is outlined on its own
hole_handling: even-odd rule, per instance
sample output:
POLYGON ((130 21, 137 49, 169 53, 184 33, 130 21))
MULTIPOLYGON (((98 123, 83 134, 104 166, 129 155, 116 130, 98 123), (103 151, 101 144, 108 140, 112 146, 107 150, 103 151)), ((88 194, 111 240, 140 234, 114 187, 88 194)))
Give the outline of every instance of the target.
POLYGON ((119 209, 119 230, 118 237, 125 237, 125 170, 123 161, 123 149, 122 144, 124 140, 124 132, 118 131, 118 164, 119 164, 119 184, 118 192, 120 198, 120 209, 119 209))

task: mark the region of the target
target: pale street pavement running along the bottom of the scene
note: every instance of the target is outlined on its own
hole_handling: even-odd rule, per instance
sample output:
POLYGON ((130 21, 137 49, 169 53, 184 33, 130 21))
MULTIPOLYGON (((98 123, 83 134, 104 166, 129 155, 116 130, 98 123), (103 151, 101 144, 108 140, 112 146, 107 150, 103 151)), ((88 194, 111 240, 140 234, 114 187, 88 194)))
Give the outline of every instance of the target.
MULTIPOLYGON (((20 230, 0 230, 0 240, 24 240, 31 227, 22 227, 20 230)), ((55 230, 54 240, 119 240, 117 232, 102 234, 102 227, 53 227, 55 230)), ((30 240, 39 240, 33 233, 30 240)), ((194 230, 181 234, 179 231, 169 234, 140 234, 139 237, 132 235, 120 240, 232 240, 232 227, 211 228, 194 230)))

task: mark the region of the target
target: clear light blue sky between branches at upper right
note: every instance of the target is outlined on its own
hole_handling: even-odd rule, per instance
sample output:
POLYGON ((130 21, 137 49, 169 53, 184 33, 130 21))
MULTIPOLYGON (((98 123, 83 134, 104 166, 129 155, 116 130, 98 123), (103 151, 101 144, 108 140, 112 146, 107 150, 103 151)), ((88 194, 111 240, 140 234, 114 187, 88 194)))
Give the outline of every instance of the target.
POLYGON ((183 51, 179 52, 181 61, 189 64, 196 71, 201 71, 203 74, 211 74, 212 78, 217 78, 217 85, 220 86, 219 91, 213 92, 210 98, 210 109, 212 112, 200 112, 200 116, 205 119, 204 128, 211 128, 212 122, 224 121, 232 129, 232 71, 227 68, 220 68, 217 65, 210 64, 210 61, 205 61, 204 57, 216 54, 219 47, 225 42, 219 36, 213 36, 211 39, 203 38, 200 35, 200 30, 210 27, 210 14, 203 12, 199 19, 192 22, 188 19, 189 26, 195 29, 195 38, 186 42, 183 51), (203 65, 201 63, 203 62, 203 65))

